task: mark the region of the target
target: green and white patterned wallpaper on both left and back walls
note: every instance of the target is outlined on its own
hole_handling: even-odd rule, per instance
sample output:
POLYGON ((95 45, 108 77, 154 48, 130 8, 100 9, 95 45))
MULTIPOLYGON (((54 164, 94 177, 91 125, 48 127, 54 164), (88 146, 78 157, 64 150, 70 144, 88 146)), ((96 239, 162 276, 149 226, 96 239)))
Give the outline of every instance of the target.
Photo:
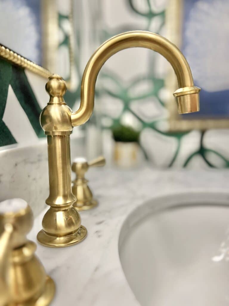
MULTIPOLYGON (((85 54, 91 54, 95 46, 120 32, 138 29, 166 36, 165 0, 79 2, 82 5, 77 7, 75 4, 80 9, 75 10, 74 17, 84 20, 83 26, 75 32, 78 44, 75 50, 78 87, 65 97, 74 110, 77 109, 80 98, 80 75, 83 72, 82 66, 87 61, 85 54), (88 39, 86 47, 79 33, 83 33, 87 40, 85 35, 89 36, 92 29, 96 38, 93 38, 93 43, 88 39)), ((62 45, 63 43, 60 44, 62 45)), ((228 130, 168 131, 169 112, 166 103, 171 93, 165 87, 167 67, 164 58, 151 50, 133 48, 115 54, 105 63, 99 74, 96 83, 96 116, 91 119, 91 124, 99 126, 105 132, 119 124, 131 125, 140 130, 140 145, 152 166, 228 167, 228 130)), ((0 146, 37 143, 44 136, 39 125, 39 114, 48 99, 44 90, 46 80, 15 68, 3 60, 0 60, 0 68, 0 146)), ((79 131, 75 128, 74 132, 76 135, 79 131)), ((87 132, 87 139, 93 143, 88 146, 90 151, 96 145, 101 147, 100 141, 91 141, 92 136, 89 134, 87 132)), ((99 139, 98 134, 102 133, 96 134, 99 139)), ((109 145, 112 146, 111 140, 109 145)), ((100 151, 100 148, 96 150, 100 151)))

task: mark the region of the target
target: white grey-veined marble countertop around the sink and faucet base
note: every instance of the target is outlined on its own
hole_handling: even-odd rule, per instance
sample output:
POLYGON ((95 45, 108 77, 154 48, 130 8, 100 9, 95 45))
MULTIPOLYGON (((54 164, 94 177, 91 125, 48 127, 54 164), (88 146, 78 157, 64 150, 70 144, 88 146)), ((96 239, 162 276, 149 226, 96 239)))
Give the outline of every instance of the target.
MULTIPOLYGON (((84 241, 67 248, 38 245, 36 254, 56 282, 51 305, 139 306, 122 271, 118 237, 125 218, 156 196, 185 191, 229 193, 228 170, 91 169, 89 185, 99 206, 81 212, 88 230, 84 241)), ((45 211, 28 235, 36 241, 45 211)))

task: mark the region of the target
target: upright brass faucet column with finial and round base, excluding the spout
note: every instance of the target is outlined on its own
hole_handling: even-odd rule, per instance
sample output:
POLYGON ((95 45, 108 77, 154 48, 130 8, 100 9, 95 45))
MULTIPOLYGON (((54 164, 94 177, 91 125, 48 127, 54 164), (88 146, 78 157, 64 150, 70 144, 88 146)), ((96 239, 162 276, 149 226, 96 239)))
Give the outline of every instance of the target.
POLYGON ((46 91, 49 103, 41 113, 40 122, 48 140, 49 197, 38 241, 49 247, 65 247, 82 241, 87 230, 81 225, 71 189, 70 134, 71 109, 64 102, 66 84, 56 74, 49 77, 46 91))

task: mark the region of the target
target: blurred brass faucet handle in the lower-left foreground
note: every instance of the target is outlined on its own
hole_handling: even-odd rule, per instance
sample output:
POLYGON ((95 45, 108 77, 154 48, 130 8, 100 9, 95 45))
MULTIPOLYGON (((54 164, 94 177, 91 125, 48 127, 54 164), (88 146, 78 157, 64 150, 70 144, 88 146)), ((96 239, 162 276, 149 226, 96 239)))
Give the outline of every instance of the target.
POLYGON ((33 225, 31 208, 0 214, 0 305, 46 306, 55 293, 53 280, 35 256, 26 235, 33 225))

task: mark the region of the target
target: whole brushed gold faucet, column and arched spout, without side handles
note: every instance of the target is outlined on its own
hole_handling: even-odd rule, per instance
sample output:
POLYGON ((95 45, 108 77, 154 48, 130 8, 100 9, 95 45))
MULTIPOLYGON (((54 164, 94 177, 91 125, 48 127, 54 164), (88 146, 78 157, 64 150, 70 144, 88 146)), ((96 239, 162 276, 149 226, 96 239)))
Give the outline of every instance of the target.
POLYGON ((65 82, 60 76, 49 77, 46 91, 50 95, 41 113, 41 126, 48 138, 49 197, 46 212, 37 239, 50 247, 64 247, 85 238, 87 230, 72 206, 76 201, 71 190, 70 134, 74 126, 84 124, 94 107, 95 83, 104 63, 120 50, 143 47, 162 54, 172 65, 179 89, 177 97, 180 114, 199 110, 200 88, 194 86, 190 67, 180 50, 169 40, 152 32, 133 31, 112 37, 103 43, 87 63, 81 83, 81 103, 76 112, 64 102, 65 82))

